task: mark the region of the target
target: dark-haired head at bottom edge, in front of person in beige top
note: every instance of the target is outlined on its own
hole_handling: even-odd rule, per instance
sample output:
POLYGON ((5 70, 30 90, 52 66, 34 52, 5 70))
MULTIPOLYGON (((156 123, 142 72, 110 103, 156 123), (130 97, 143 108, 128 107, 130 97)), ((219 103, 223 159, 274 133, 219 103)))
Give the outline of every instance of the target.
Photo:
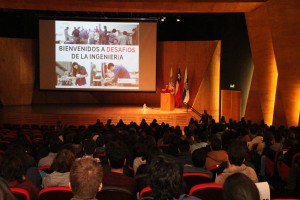
POLYGON ((245 174, 230 175, 223 185, 224 200, 260 200, 255 183, 245 174))

